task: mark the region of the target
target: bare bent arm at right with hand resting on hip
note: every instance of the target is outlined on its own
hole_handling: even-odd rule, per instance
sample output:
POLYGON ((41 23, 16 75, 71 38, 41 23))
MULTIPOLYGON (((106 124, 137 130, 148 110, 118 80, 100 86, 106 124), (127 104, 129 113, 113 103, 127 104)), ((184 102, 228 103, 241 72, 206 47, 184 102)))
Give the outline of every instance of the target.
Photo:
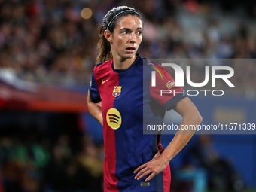
POLYGON ((175 155, 178 154, 185 145, 187 145, 187 142, 189 142, 194 132, 197 130, 181 130, 181 128, 185 125, 193 125, 194 127, 197 127, 197 125, 199 125, 203 120, 196 106, 188 97, 181 99, 181 101, 177 102, 172 109, 177 111, 178 114, 181 114, 183 117, 178 132, 162 154, 156 154, 151 161, 139 166, 135 170, 135 173, 138 172, 135 179, 139 180, 140 178, 150 174, 145 180, 145 182, 147 182, 155 175, 162 172, 168 165, 169 161, 172 160, 172 158, 175 157, 175 155))

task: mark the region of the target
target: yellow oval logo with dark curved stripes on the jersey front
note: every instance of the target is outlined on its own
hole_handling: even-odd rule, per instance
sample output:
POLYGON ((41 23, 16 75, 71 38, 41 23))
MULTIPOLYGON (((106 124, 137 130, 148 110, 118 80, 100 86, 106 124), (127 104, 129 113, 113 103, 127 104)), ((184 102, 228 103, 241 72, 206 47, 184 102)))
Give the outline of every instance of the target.
POLYGON ((120 112, 116 108, 110 108, 107 112, 107 123, 113 130, 117 130, 122 123, 120 112))

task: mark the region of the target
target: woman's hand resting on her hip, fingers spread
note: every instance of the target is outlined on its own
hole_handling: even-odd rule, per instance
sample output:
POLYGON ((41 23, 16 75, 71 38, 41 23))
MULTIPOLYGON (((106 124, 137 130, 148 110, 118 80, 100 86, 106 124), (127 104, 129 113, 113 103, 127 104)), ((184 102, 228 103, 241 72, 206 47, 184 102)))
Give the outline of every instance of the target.
POLYGON ((159 151, 157 154, 155 154, 154 158, 151 161, 148 161, 148 163, 145 163, 141 166, 139 166, 134 173, 138 172, 138 174, 135 176, 135 179, 139 180, 140 178, 145 177, 146 175, 149 175, 148 178, 145 179, 145 182, 148 182, 151 180, 151 178, 154 178, 155 175, 157 175, 160 172, 163 172, 164 169, 166 169, 166 166, 169 162, 166 162, 161 157, 159 151))

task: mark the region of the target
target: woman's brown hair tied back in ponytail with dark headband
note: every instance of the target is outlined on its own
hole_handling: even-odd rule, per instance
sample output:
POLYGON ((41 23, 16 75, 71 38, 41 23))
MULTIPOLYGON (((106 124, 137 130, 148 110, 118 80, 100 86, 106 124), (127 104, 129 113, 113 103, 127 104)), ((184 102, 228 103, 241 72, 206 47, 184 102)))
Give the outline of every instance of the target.
POLYGON ((97 56, 96 62, 106 62, 110 59, 113 59, 111 54, 111 45, 109 41, 105 38, 104 32, 105 30, 109 30, 109 32, 113 33, 115 26, 117 26, 117 18, 127 16, 127 15, 136 15, 140 17, 139 13, 134 8, 129 8, 127 6, 119 6, 117 8, 113 8, 108 11, 108 14, 102 20, 102 24, 99 26, 99 42, 98 49, 99 55, 97 56))

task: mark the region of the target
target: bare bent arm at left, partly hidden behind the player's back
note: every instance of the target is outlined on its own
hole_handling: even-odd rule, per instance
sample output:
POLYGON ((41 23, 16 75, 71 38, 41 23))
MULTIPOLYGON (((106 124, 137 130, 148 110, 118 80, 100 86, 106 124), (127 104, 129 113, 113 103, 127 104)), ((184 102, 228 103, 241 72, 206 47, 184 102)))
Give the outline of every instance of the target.
POLYGON ((88 90, 88 95, 87 95, 87 105, 88 105, 88 110, 90 114, 99 121, 103 125, 103 118, 102 118, 102 106, 101 103, 94 103, 92 102, 92 99, 90 99, 90 91, 88 90))

